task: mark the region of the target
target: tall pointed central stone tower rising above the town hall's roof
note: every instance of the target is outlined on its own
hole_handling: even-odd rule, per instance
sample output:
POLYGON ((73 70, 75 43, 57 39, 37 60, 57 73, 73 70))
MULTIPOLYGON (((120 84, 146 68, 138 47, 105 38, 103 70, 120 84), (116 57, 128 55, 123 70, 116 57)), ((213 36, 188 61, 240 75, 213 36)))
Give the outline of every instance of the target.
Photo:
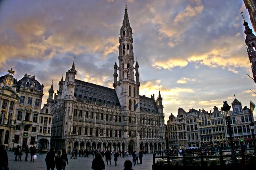
POLYGON ((138 109, 139 111, 138 105, 135 106, 139 103, 139 64, 136 62, 134 68, 132 28, 128 18, 127 6, 125 7, 120 36, 119 67, 117 67, 117 63, 115 63, 113 87, 116 90, 119 102, 121 106, 124 107, 124 110, 136 111, 138 109), (136 81, 134 81, 134 69, 136 71, 136 81))

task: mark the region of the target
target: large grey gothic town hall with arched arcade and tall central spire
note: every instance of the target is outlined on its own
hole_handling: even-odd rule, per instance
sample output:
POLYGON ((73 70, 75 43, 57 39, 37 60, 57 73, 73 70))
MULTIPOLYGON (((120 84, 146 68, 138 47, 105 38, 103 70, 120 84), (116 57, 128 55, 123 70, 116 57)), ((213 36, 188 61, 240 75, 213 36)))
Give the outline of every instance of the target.
POLYGON ((51 106, 52 143, 57 149, 165 149, 162 98, 139 96, 139 64, 134 67, 132 28, 125 8, 119 40, 119 66, 114 65, 115 89, 76 80, 74 63, 51 106), (135 80, 134 80, 135 69, 135 80))

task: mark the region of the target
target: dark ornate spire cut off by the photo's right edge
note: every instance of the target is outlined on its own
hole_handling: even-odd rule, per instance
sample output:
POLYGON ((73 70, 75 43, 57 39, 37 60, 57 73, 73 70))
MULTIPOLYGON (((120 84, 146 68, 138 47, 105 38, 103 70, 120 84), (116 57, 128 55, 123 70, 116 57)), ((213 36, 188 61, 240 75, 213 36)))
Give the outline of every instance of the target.
POLYGON ((256 83, 256 36, 252 33, 252 29, 248 26, 248 22, 244 22, 243 25, 245 26, 245 44, 247 45, 247 53, 252 63, 252 75, 254 78, 254 82, 256 83))

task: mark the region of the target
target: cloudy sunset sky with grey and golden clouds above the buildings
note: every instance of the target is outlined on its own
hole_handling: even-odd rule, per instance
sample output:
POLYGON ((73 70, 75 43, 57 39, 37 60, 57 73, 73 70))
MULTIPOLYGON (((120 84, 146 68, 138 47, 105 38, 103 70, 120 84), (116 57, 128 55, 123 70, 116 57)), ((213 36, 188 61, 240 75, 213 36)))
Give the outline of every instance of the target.
POLYGON ((76 56, 76 79, 113 88, 125 5, 140 95, 156 97, 160 87, 165 121, 179 107, 231 105, 234 94, 242 107, 256 103, 243 0, 1 0, 0 76, 11 67, 18 80, 35 75, 44 104, 52 79, 57 92, 76 56))

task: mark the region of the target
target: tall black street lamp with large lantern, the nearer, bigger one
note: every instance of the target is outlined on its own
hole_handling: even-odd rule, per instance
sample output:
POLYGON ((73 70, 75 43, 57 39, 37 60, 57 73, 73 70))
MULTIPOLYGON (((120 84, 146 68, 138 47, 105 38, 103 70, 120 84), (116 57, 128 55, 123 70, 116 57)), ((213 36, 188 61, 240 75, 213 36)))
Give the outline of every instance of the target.
POLYGON ((230 164, 235 165, 237 163, 236 155, 234 152, 234 146, 233 146, 233 139, 232 139, 232 130, 230 125, 230 106, 228 105, 227 101, 223 101, 223 107, 221 107, 221 111, 224 112, 226 116, 226 123, 228 123, 228 134, 230 138, 230 145, 231 145, 231 158, 230 158, 230 164))

